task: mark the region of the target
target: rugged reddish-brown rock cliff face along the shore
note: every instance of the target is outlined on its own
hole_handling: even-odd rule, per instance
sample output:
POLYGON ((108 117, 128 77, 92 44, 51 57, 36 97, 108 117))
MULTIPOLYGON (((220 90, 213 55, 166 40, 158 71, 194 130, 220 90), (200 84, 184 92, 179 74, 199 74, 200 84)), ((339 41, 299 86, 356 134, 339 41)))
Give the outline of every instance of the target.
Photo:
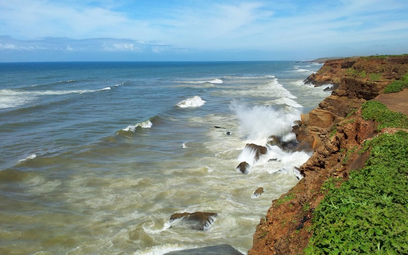
MULTIPOLYGON (((385 87, 408 71, 408 56, 355 57, 328 60, 305 83, 334 84, 336 88, 319 106, 302 114, 297 139, 309 144, 313 156, 300 167, 304 178, 286 194, 272 201, 265 219, 253 235, 248 254, 302 254, 312 236, 315 208, 325 196, 323 184, 364 166, 368 153, 357 154, 363 141, 377 134, 377 123, 362 118, 361 106, 377 100, 385 87)), ((401 103, 407 109, 406 89, 401 103)), ((378 99, 380 100, 380 99, 378 99)), ((385 99, 382 98, 384 101, 385 99)))

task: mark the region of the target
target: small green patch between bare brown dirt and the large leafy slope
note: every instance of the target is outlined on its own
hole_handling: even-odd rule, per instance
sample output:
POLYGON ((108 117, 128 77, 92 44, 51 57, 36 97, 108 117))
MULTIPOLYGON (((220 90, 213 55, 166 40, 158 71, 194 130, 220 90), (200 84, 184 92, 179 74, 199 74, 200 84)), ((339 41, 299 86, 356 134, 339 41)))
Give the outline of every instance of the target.
POLYGON ((379 122, 378 131, 385 127, 402 127, 408 129, 408 117, 403 113, 388 110, 387 106, 378 101, 367 101, 362 106, 363 118, 379 122))

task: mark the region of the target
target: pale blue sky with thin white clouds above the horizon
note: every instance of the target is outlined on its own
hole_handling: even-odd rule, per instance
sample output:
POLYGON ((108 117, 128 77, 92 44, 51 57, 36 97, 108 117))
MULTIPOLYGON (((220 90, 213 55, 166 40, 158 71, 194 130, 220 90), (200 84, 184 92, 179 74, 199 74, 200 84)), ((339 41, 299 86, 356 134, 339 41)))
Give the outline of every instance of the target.
POLYGON ((408 53, 407 0, 0 0, 0 62, 408 53))

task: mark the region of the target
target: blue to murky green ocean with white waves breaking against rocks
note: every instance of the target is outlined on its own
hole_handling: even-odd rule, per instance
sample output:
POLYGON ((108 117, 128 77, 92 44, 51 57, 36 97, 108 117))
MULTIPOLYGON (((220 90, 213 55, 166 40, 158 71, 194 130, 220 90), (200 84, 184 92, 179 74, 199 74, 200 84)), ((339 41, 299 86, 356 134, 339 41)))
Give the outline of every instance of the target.
POLYGON ((256 161, 245 144, 294 139, 293 121, 330 93, 302 82, 320 67, 0 63, 0 253, 163 254, 224 243, 246 253, 311 155, 268 146, 256 161), (236 169, 242 161, 248 174, 236 169), (218 215, 204 231, 169 222, 196 211, 218 215))

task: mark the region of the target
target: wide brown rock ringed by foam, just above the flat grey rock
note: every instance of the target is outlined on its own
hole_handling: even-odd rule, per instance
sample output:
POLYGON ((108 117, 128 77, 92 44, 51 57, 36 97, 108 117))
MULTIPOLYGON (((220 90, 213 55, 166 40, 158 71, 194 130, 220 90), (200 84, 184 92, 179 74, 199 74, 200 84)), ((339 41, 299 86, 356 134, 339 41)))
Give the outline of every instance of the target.
POLYGON ((203 231, 205 227, 209 227, 214 219, 212 217, 217 216, 217 213, 175 213, 170 216, 170 223, 176 219, 182 219, 186 221, 193 230, 203 231))

